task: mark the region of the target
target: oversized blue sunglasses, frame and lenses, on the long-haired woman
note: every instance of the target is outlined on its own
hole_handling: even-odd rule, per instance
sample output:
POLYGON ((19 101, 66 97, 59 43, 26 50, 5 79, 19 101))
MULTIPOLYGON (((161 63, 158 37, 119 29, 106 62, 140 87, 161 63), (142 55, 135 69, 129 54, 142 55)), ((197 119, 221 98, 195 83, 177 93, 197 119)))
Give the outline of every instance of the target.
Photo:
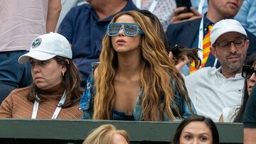
POLYGON ((116 36, 122 29, 127 36, 136 36, 138 32, 144 34, 137 23, 110 23, 107 26, 107 35, 116 36))

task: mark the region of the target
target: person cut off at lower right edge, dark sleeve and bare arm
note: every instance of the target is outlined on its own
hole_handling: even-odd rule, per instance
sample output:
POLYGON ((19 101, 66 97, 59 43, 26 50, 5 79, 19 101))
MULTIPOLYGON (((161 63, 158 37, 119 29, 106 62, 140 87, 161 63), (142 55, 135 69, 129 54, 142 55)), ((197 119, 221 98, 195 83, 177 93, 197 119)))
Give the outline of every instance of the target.
MULTIPOLYGON (((255 73, 255 72, 254 72, 255 73)), ((248 102, 245 107, 243 120, 244 143, 253 144, 256 141, 256 84, 252 88, 248 102)))

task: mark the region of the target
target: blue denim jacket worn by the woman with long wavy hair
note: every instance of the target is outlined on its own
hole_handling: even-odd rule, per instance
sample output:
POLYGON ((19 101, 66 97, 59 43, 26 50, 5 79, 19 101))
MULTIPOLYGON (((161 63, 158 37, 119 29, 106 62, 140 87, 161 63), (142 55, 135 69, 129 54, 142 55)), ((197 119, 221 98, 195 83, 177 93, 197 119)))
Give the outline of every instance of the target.
MULTIPOLYGON (((82 99, 80 100, 80 109, 83 111, 83 119, 91 119, 93 114, 93 102, 96 94, 95 89, 95 79, 93 77, 93 72, 95 68, 99 65, 99 62, 92 63, 92 73, 87 79, 87 86, 85 88, 85 92, 82 94, 82 99)), ((181 95, 176 90, 176 87, 174 85, 174 100, 176 102, 176 105, 178 106, 178 110, 180 111, 180 114, 182 118, 186 118, 191 115, 191 111, 188 109, 188 105, 186 104, 185 99, 181 97, 181 95)), ((189 99, 189 98, 188 98, 189 99)), ((171 103, 171 110, 174 112, 174 116, 178 117, 178 114, 175 112, 174 106, 171 103)), ((192 109, 194 113, 196 113, 196 110, 191 102, 192 109)), ((117 112, 118 113, 118 112, 117 112)), ((127 120, 125 118, 120 117, 120 115, 117 115, 116 112, 113 112, 113 119, 114 120, 127 120)), ((137 98, 137 102, 134 106, 133 111, 133 120, 134 121, 143 121, 142 120, 142 89, 139 89, 139 94, 137 98)), ((177 119, 178 120, 178 119, 177 119)), ((163 121, 169 121, 169 118, 166 114, 166 111, 164 111, 164 119, 163 121)))

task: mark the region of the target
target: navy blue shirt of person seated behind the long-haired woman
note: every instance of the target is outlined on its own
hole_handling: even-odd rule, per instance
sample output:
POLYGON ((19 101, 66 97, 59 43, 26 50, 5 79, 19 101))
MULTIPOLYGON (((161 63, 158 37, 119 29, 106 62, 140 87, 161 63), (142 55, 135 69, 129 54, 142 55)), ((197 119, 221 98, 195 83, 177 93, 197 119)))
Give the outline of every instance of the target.
MULTIPOLYGON (((138 10, 131 0, 121 11, 138 10)), ((102 50, 102 38, 107 24, 113 16, 99 20, 97 13, 90 6, 84 4, 71 9, 60 23, 58 33, 64 35, 72 45, 73 61, 82 74, 81 86, 85 87, 87 77, 91 73, 92 62, 97 62, 102 50)))

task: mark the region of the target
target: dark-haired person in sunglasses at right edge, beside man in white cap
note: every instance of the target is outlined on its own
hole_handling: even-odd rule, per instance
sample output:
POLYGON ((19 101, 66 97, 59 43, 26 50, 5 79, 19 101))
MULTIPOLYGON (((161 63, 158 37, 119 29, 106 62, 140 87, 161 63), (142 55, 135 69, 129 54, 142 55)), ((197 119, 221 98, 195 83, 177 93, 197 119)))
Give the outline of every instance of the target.
POLYGON ((256 53, 253 53, 245 60, 245 65, 242 67, 242 77, 245 78, 245 84, 242 94, 242 105, 239 108, 227 107, 223 108, 223 115, 220 116, 221 122, 238 122, 242 123, 243 115, 245 113, 245 106, 249 98, 252 87, 256 83, 256 53))

